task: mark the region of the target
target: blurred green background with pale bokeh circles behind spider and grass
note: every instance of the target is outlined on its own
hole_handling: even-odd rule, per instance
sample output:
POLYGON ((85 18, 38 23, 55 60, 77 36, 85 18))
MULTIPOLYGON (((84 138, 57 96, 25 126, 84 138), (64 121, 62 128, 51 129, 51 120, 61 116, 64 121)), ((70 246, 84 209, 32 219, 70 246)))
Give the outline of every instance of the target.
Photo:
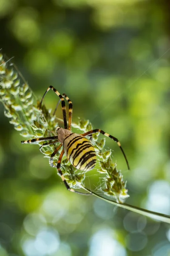
MULTIPOLYGON (((117 137, 128 204, 170 215, 170 2, 0 0, 0 48, 41 99, 49 85, 117 137)), ((45 98, 55 108, 53 92, 45 98)), ((0 256, 169 256, 170 225, 68 192, 0 106, 0 256)), ((90 172, 89 186, 91 186, 90 172)), ((94 178, 94 177, 93 177, 94 178)), ((96 175, 95 179, 99 179, 96 175)))

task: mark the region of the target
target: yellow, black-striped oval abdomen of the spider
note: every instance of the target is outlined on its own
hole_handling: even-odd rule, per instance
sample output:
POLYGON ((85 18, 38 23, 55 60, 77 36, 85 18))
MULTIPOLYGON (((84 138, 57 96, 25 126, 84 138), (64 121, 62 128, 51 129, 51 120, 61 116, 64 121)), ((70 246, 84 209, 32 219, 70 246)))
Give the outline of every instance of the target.
POLYGON ((96 152, 91 142, 80 134, 72 133, 65 138, 64 151, 73 166, 89 171, 96 164, 96 152))

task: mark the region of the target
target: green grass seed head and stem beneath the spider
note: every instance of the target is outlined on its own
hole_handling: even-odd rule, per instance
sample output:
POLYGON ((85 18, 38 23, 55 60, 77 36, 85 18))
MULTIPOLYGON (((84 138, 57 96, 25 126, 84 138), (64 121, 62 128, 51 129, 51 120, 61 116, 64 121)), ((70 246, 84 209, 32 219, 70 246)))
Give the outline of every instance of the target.
MULTIPOLYGON (((0 101, 3 103, 4 114, 10 119, 10 123, 14 125, 14 129, 20 131, 20 135, 28 138, 49 137, 55 134, 55 128, 58 126, 59 118, 51 114, 51 110, 45 108, 39 109, 40 102, 37 100, 34 93, 31 91, 28 83, 22 77, 20 72, 9 61, 5 61, 0 54, 0 101), (20 82, 18 76, 23 80, 20 82)), ((60 120, 61 121, 61 120, 60 120)), ((92 125, 89 120, 83 121, 79 119, 77 123, 73 123, 74 128, 83 131, 84 133, 92 130, 92 125)), ((116 168, 116 164, 112 162, 111 150, 105 150, 105 138, 99 140, 99 133, 91 136, 91 143, 94 145, 96 154, 99 158, 99 163, 96 172, 102 177, 104 185, 97 192, 92 192, 85 187, 85 172, 80 172, 70 164, 68 159, 62 160, 62 172, 69 186, 74 189, 85 189, 96 197, 99 197, 111 204, 116 204, 119 207, 129 209, 140 214, 157 218, 161 221, 170 223, 170 216, 156 212, 151 212, 146 209, 133 207, 124 204, 125 199, 129 197, 126 189, 126 182, 123 181, 123 176, 116 168), (98 192, 102 192, 103 196, 98 192), (116 201, 113 201, 116 200, 116 201)), ((38 142, 42 145, 42 142, 38 142)), ((41 148, 41 152, 50 161, 50 156, 58 143, 45 145, 41 148)), ((54 157, 54 167, 57 165, 59 153, 54 157)))

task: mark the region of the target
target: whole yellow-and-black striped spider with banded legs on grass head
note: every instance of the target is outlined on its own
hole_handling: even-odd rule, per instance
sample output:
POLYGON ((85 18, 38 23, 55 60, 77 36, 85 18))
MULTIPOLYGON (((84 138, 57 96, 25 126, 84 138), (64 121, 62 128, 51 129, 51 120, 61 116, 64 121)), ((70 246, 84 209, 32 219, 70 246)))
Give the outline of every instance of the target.
POLYGON ((78 192, 78 191, 72 189, 68 185, 68 183, 65 180, 65 177, 62 174, 62 171, 60 169, 63 154, 65 153, 65 155, 68 158, 68 160, 70 161, 70 163, 77 169, 82 170, 82 171, 90 171, 96 165, 96 152, 95 152, 94 146, 91 144, 91 141, 85 137, 90 136, 91 134, 94 134, 97 132, 105 135, 106 137, 111 138, 118 144, 118 146, 121 149, 122 154, 124 155, 124 158, 126 160, 127 168, 130 169, 125 152, 123 151, 122 146, 116 137, 113 137, 112 135, 105 133, 105 131, 102 131, 100 129, 94 129, 94 130, 88 131, 84 134, 73 133, 71 131, 72 110, 73 110, 72 102, 68 98, 68 96, 66 96, 65 94, 61 95, 53 86, 48 87, 48 89, 45 91, 44 95, 42 96, 39 108, 41 108, 42 101, 43 101, 46 93, 48 93, 48 91, 50 89, 53 90, 59 96, 59 98, 61 100, 64 129, 62 127, 57 127, 56 128, 57 136, 41 137, 41 138, 36 138, 36 139, 32 139, 32 140, 25 140, 25 141, 21 141, 21 143, 23 143, 23 144, 36 143, 36 142, 40 142, 40 141, 48 141, 49 140, 48 143, 43 144, 43 145, 49 145, 49 144, 54 144, 54 143, 60 142, 59 146, 51 154, 51 167, 53 167, 53 157, 57 154, 57 151, 59 151, 59 149, 63 146, 63 149, 61 151, 61 154, 59 155, 59 159, 57 162, 57 170, 59 172, 59 175, 62 178, 62 181, 64 182, 66 188, 68 190, 70 190, 71 192, 76 192, 78 194, 83 194, 83 195, 91 195, 91 193, 86 194, 86 193, 78 192), (64 98, 68 101, 68 108, 69 108, 68 125, 67 125, 66 108, 65 108, 65 99, 64 98))

